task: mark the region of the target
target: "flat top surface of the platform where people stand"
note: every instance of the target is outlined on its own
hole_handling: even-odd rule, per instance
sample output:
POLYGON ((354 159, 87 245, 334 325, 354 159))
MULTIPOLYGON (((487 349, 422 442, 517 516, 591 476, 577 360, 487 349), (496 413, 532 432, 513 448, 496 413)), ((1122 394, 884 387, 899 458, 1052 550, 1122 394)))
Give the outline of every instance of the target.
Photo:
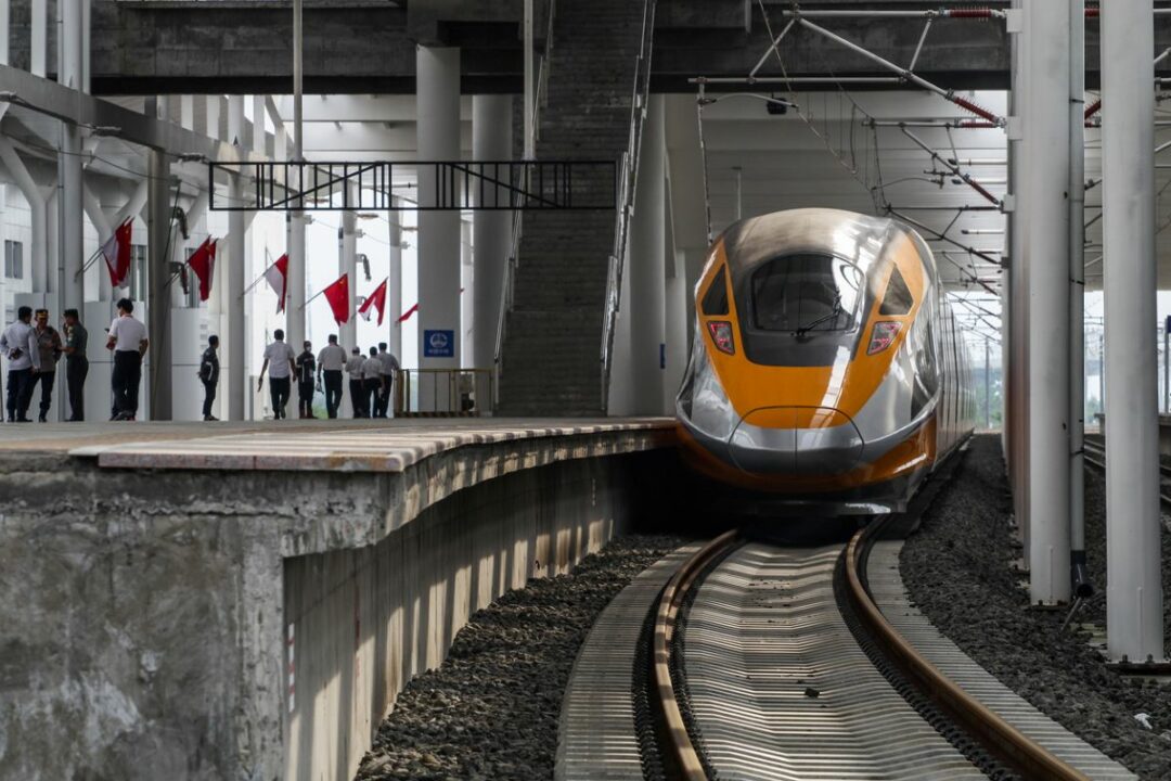
POLYGON ((0 454, 68 453, 111 468, 399 472, 467 445, 673 430, 670 418, 459 418, 0 425, 0 454))

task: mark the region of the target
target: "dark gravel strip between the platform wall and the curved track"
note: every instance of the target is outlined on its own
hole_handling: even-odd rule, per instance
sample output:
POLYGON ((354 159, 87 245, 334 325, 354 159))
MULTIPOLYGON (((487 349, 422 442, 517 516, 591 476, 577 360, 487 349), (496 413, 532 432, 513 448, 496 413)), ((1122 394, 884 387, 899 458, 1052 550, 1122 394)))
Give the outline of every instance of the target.
POLYGON ((443 665, 399 694, 357 779, 552 779, 577 649, 610 600, 685 542, 619 537, 571 575, 532 580, 477 612, 443 665))

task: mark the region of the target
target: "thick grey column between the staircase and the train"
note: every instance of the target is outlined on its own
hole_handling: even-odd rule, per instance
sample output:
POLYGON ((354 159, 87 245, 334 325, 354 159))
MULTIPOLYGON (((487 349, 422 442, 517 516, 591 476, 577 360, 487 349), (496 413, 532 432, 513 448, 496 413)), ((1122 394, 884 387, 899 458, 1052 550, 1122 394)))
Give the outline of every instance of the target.
POLYGON ((630 297, 622 309, 630 317, 631 383, 635 415, 663 415, 663 359, 666 337, 666 186, 663 96, 652 95, 643 124, 635 213, 630 226, 626 273, 630 297))

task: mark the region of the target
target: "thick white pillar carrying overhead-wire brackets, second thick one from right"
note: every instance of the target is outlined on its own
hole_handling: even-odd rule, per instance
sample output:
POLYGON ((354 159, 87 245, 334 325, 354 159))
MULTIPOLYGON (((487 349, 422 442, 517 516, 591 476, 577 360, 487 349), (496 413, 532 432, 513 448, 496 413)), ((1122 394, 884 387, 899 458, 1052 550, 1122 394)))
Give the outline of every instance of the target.
POLYGON ((1069 600, 1069 13, 1023 5, 1028 100, 1023 229, 1027 263, 1029 597, 1069 600))

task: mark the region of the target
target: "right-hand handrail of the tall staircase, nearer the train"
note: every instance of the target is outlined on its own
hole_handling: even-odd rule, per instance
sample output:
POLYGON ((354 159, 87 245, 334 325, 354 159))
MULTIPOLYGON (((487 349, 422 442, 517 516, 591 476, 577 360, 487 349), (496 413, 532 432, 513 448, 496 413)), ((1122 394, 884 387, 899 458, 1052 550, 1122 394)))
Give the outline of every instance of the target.
POLYGON ((638 158, 642 152, 643 123, 651 83, 651 46, 655 37, 655 0, 644 0, 643 30, 635 66, 635 87, 630 101, 630 130, 626 151, 618 165, 617 214, 614 229, 614 252, 605 279, 605 301, 602 318, 602 413, 610 403, 610 368, 614 361, 614 331, 622 308, 622 272, 626 260, 626 237, 630 217, 635 210, 635 184, 638 178, 638 158))

